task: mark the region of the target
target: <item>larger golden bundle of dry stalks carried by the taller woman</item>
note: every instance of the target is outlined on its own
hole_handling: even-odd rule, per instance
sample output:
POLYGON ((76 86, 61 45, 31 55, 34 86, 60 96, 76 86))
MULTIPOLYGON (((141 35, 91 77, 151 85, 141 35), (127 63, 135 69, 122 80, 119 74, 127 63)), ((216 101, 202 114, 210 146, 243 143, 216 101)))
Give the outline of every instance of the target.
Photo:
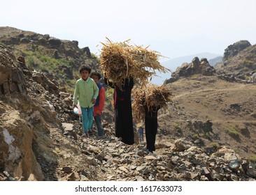
POLYGON ((124 84, 124 79, 127 77, 133 77, 137 84, 145 85, 148 83, 148 78, 155 75, 155 70, 170 71, 160 65, 158 61, 160 55, 155 51, 148 51, 147 47, 129 45, 129 40, 125 42, 108 40, 102 44, 104 47, 99 57, 100 68, 118 86, 124 84))

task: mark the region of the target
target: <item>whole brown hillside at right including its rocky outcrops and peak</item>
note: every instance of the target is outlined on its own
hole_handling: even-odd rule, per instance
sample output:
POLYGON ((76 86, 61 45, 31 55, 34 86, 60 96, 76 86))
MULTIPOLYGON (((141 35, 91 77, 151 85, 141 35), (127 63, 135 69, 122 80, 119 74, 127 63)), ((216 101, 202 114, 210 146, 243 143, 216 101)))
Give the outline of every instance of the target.
POLYGON ((224 145, 255 158, 256 91, 250 73, 256 67, 241 63, 249 57, 256 62, 254 48, 239 41, 225 49, 225 65, 213 68, 207 59, 196 57, 173 72, 166 80, 173 88, 173 108, 160 119, 169 121, 164 126, 172 125, 172 137, 190 137, 209 152, 224 145))

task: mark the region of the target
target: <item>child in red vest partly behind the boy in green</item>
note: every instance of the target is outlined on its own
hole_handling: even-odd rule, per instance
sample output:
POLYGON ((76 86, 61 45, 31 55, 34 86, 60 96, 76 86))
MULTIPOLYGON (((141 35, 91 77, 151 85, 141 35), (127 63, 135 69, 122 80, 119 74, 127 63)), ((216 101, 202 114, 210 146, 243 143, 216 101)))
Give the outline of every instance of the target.
POLYGON ((96 99, 96 103, 94 104, 93 116, 97 126, 98 137, 101 138, 103 137, 103 134, 104 134, 104 128, 101 125, 101 114, 102 114, 102 110, 104 108, 104 102, 105 102, 105 88, 99 82, 99 80, 101 79, 101 74, 99 74, 99 72, 92 72, 91 78, 94 79, 95 83, 99 88, 99 95, 96 99))

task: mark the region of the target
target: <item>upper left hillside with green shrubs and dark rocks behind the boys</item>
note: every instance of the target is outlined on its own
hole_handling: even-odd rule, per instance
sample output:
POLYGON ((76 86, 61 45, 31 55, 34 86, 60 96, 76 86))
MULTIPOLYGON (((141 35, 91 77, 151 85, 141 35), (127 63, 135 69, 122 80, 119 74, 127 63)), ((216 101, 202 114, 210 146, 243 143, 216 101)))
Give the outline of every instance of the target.
POLYGON ((98 68, 89 47, 80 49, 76 40, 59 40, 48 34, 0 27, 0 44, 11 49, 15 56, 24 57, 29 70, 43 72, 58 81, 62 91, 73 88, 81 64, 90 65, 93 70, 98 68))

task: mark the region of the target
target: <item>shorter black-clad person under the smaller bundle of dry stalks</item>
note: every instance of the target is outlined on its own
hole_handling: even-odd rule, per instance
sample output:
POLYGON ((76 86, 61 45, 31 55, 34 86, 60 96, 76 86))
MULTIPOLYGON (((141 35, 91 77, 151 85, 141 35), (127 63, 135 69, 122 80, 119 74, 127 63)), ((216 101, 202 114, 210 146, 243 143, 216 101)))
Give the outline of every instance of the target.
POLYGON ((155 137, 157 135, 157 111, 159 106, 145 108, 145 140, 147 142, 147 149, 150 153, 155 151, 155 137))

